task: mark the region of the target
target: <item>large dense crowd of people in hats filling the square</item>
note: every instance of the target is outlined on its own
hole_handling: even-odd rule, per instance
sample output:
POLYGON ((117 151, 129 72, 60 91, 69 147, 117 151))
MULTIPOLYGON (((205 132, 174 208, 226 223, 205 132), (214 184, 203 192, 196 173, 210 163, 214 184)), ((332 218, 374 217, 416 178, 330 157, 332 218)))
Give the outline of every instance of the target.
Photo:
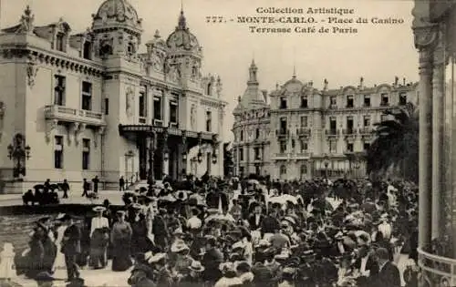
POLYGON ((165 180, 124 191, 122 207, 105 200, 92 214, 37 220, 26 275, 80 282, 88 266, 130 271, 135 287, 415 286, 417 271, 397 263, 417 261, 417 190, 368 179, 165 180))

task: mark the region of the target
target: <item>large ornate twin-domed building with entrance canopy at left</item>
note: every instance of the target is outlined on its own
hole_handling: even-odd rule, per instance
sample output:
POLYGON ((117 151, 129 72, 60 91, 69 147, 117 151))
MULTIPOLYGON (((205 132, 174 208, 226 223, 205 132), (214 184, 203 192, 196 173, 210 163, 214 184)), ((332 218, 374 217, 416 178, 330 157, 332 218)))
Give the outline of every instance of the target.
POLYGON ((220 77, 183 11, 175 30, 141 38, 127 0, 106 0, 91 28, 37 26, 27 6, 0 35, 0 175, 5 192, 45 179, 130 182, 223 175, 220 77), (146 52, 140 53, 145 43, 146 52))

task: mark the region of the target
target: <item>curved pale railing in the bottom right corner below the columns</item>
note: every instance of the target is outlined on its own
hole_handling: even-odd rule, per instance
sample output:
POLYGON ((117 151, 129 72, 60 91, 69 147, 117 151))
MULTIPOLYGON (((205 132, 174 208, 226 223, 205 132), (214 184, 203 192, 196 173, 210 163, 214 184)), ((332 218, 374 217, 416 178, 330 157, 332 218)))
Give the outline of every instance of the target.
POLYGON ((419 266, 428 286, 456 286, 456 260, 418 249, 419 266))

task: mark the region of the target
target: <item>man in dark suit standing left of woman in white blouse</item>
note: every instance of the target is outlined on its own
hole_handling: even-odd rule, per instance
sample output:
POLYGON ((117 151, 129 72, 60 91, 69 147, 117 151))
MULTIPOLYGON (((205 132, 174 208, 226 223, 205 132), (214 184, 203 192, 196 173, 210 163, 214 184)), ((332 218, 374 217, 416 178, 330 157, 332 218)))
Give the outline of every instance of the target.
POLYGON ((81 231, 70 215, 66 214, 64 220, 67 223, 67 229, 63 233, 61 252, 65 255, 65 264, 67 265, 68 276, 67 281, 71 282, 79 277, 76 258, 81 252, 81 231))

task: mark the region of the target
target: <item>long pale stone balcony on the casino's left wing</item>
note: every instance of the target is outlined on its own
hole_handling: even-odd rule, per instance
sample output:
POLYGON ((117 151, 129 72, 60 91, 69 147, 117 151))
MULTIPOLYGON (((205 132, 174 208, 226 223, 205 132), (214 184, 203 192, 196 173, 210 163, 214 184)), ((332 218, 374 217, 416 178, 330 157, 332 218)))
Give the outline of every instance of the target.
POLYGON ((93 127, 106 126, 105 115, 102 112, 65 106, 46 106, 45 118, 62 122, 81 123, 93 127))

